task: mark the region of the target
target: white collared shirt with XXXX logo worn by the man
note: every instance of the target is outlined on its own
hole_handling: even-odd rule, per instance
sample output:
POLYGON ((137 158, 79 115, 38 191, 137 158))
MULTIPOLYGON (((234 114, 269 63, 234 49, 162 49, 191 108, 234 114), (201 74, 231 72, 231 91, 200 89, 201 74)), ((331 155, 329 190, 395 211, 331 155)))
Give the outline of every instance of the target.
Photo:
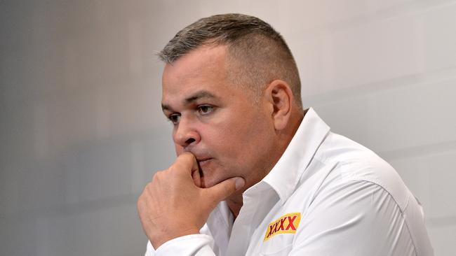
POLYGON ((236 220, 222 201, 200 233, 156 251, 149 242, 145 255, 434 255, 398 173, 312 108, 279 162, 243 193, 236 220))

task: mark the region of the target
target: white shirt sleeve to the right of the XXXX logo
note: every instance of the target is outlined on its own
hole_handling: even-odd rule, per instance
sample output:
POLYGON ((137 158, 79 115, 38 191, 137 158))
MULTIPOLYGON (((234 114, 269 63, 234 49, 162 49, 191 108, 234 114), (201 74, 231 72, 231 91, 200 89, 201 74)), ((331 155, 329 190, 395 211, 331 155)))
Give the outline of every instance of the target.
POLYGON ((316 196, 287 255, 417 253, 403 211, 391 194, 375 183, 355 180, 316 196))

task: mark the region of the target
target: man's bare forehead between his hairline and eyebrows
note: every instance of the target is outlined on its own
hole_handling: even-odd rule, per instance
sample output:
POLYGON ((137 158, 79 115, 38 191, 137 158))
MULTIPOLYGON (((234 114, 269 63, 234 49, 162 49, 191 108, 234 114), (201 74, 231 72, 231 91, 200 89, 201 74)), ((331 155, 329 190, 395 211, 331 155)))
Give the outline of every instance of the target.
POLYGON ((227 85, 226 46, 202 47, 172 64, 166 64, 162 77, 162 103, 181 100, 196 91, 220 94, 227 85))

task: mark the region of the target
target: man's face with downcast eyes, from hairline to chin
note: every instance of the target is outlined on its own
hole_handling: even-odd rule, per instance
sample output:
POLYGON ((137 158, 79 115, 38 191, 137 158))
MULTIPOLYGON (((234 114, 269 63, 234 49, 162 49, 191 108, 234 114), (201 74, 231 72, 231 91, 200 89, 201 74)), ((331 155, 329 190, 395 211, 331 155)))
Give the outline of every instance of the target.
POLYGON ((203 187, 241 176, 246 187, 271 169, 274 148, 271 107, 255 103, 227 79, 226 46, 193 50, 163 71, 163 113, 173 123, 177 155, 192 152, 203 187))

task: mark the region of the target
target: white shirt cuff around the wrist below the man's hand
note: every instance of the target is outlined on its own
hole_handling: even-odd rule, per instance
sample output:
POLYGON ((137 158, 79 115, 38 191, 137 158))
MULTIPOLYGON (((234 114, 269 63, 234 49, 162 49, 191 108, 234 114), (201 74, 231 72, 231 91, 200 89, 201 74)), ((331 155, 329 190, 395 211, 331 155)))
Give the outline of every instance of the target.
POLYGON ((214 240, 207 234, 180 236, 163 243, 157 250, 147 242, 145 256, 214 256, 214 240))

